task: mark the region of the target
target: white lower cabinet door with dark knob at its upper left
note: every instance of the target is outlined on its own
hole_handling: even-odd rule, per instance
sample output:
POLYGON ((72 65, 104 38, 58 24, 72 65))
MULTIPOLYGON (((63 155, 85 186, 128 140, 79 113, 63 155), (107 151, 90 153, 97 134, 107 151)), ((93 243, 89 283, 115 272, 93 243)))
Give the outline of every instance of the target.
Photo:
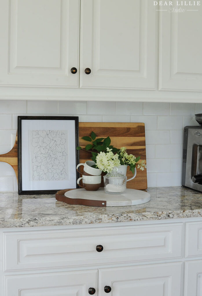
POLYGON ((182 263, 99 269, 99 296, 180 296, 182 263), (110 295, 110 294, 109 294, 110 295))

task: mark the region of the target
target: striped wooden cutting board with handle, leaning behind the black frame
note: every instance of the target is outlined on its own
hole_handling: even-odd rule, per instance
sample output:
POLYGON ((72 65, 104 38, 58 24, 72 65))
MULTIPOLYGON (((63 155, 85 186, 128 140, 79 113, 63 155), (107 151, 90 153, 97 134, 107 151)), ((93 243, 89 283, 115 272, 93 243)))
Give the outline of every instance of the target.
MULTIPOLYGON (((85 147, 88 144, 81 139, 83 136, 90 136, 94 131, 96 135, 106 138, 110 136, 111 144, 114 147, 126 147, 128 153, 135 156, 141 156, 141 160, 146 163, 146 150, 145 150, 145 124, 144 123, 108 123, 108 122, 80 122, 79 123, 79 144, 85 147)), ((91 153, 81 150, 80 163, 90 160, 91 153)), ((15 145, 12 150, 6 154, 0 155, 0 161, 9 163, 15 171, 17 177, 17 137, 15 145)), ((132 177, 132 173, 127 172, 127 177, 132 177)), ((127 182, 127 188, 132 189, 147 189, 147 172, 137 169, 136 177, 127 182)))

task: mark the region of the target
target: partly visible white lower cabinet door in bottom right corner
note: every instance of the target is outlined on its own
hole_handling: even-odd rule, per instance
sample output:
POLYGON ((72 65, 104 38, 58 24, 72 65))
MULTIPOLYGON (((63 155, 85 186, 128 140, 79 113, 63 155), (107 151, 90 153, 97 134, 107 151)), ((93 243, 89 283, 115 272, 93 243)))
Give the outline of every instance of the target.
POLYGON ((185 296, 202 296, 202 260, 185 262, 185 296))

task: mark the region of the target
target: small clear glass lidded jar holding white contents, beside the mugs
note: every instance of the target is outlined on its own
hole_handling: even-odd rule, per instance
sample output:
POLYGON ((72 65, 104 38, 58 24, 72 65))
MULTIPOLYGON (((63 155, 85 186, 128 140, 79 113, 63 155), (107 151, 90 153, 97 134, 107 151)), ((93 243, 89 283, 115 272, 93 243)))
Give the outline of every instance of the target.
POLYGON ((108 194, 122 194, 126 190, 127 177, 117 171, 118 168, 114 167, 112 172, 103 176, 104 190, 108 194))

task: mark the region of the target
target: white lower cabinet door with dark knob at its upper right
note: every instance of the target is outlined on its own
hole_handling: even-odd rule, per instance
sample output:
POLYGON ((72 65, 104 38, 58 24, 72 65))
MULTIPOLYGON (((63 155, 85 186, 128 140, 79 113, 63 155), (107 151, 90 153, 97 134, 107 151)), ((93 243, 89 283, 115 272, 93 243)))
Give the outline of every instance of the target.
POLYGON ((97 293, 97 270, 5 276, 5 296, 86 296, 97 293))

